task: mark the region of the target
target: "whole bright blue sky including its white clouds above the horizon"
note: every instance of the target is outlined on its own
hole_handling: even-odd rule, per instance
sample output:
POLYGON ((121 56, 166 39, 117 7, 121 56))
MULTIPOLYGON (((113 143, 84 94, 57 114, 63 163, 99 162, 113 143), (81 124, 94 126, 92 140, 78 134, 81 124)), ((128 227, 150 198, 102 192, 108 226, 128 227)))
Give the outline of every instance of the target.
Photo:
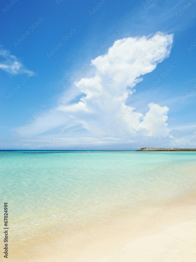
POLYGON ((196 147, 195 7, 2 2, 2 149, 196 147))

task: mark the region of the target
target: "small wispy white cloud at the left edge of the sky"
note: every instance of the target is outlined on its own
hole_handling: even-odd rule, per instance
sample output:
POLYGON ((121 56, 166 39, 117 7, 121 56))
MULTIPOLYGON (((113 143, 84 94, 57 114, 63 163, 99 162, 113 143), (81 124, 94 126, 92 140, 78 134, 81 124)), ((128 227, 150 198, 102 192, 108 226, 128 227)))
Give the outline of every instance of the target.
POLYGON ((0 46, 0 69, 13 75, 34 75, 32 70, 28 70, 16 56, 12 55, 10 51, 3 49, 2 46, 0 46))

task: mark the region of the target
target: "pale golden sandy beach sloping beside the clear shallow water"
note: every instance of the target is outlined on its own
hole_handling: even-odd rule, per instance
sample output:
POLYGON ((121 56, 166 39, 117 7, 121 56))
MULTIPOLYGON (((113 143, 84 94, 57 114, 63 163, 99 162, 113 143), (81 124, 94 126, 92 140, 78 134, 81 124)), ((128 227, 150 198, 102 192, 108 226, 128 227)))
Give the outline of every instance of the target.
POLYGON ((186 199, 159 208, 108 217, 97 226, 69 232, 44 231, 12 247, 9 261, 192 262, 195 261, 196 199, 190 193, 186 199))

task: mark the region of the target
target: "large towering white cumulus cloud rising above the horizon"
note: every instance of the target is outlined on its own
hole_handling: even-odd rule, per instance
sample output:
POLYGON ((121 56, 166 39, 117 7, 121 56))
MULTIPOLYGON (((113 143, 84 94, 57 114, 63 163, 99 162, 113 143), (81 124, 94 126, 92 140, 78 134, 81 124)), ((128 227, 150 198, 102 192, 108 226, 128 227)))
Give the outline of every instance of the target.
MULTIPOLYGON (((168 135, 168 107, 150 103, 143 116, 136 108, 126 104, 134 95, 134 88, 142 81, 142 75, 152 72, 171 51, 173 35, 157 32, 154 36, 127 37, 114 42, 108 53, 91 60, 96 69, 94 77, 82 78, 74 83, 80 94, 77 103, 59 102, 55 109, 37 117, 23 135, 37 135, 65 125, 73 116, 78 117, 78 132, 87 137, 121 137, 145 135, 154 125, 160 127, 153 136, 168 135), (51 119, 58 121, 51 121, 51 119)), ((65 96, 65 94, 64 94, 65 96)), ((73 133, 73 136, 75 134, 73 133)), ((66 134, 64 135, 66 138, 66 134)))

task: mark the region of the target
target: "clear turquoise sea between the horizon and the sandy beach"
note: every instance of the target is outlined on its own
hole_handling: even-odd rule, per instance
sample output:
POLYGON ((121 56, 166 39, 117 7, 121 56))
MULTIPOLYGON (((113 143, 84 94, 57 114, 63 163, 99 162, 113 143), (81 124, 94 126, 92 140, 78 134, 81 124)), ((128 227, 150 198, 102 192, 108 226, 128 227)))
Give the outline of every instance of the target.
POLYGON ((18 235, 175 201, 196 181, 196 152, 1 151, 0 163, 1 199, 18 235))

